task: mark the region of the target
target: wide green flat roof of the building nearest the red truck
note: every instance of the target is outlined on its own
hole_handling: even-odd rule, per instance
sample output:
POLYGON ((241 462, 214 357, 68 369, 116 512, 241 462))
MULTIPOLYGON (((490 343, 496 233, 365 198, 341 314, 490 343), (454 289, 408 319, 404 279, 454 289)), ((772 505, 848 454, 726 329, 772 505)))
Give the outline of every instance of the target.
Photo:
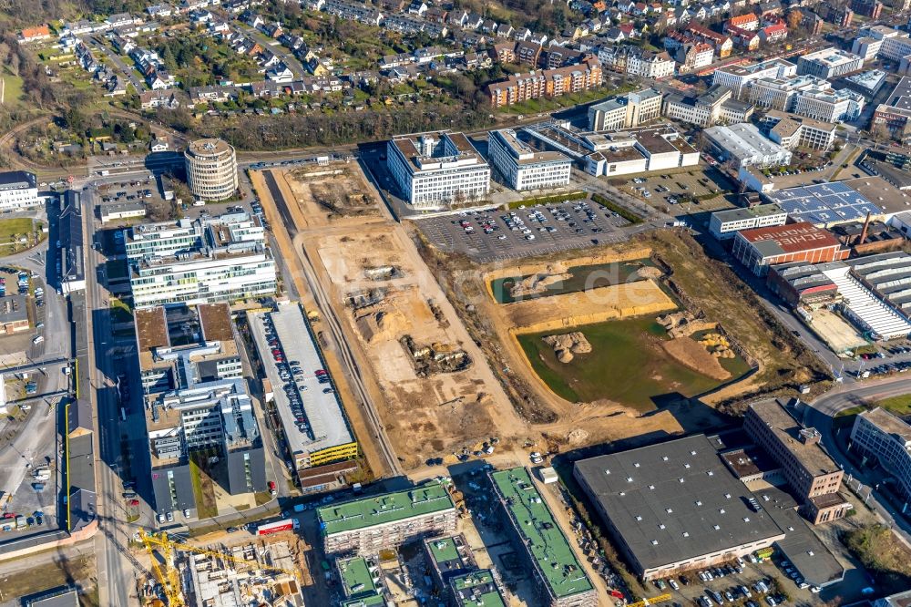
POLYGON ((323 506, 316 510, 316 517, 322 535, 327 536, 449 509, 455 509, 449 491, 434 481, 405 491, 323 506))

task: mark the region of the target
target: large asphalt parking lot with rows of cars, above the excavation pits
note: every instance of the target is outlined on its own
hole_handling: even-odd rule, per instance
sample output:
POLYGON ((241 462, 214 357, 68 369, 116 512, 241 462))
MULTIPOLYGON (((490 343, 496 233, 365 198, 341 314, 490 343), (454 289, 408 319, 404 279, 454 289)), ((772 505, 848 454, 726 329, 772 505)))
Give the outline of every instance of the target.
POLYGON ((591 201, 463 211, 415 223, 441 251, 466 253, 482 263, 621 242, 627 238, 622 228, 630 225, 591 201))

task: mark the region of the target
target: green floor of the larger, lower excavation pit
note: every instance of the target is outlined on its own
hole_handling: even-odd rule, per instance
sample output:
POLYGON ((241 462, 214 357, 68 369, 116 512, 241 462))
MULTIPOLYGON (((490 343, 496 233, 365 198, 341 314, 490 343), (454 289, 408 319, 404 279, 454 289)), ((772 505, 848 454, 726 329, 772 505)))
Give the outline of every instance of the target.
MULTIPOLYGON (((558 396, 570 402, 601 398, 647 411, 681 396, 696 396, 720 382, 692 371, 667 355, 660 340, 668 338, 651 316, 576 327, 592 351, 565 365, 542 337, 553 332, 524 334, 518 342, 537 375, 558 396)), ((745 373, 740 359, 722 361, 732 376, 745 373)))

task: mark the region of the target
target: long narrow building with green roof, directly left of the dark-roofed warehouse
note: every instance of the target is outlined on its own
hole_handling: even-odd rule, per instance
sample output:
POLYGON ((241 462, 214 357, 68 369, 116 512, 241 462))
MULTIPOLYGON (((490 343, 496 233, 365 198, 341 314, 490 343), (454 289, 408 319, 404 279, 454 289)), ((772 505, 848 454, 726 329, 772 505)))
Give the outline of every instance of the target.
POLYGON ((517 550, 530 561, 544 607, 595 607, 598 592, 582 569, 527 469, 489 473, 517 550))

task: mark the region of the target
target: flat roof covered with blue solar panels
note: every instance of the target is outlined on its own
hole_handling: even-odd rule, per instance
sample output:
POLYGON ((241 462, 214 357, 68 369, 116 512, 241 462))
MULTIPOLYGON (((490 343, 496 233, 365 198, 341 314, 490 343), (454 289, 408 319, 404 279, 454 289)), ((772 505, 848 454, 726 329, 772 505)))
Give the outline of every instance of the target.
POLYGON ((881 215, 883 210, 844 181, 777 190, 765 194, 776 202, 793 221, 814 225, 863 221, 867 213, 881 215))

